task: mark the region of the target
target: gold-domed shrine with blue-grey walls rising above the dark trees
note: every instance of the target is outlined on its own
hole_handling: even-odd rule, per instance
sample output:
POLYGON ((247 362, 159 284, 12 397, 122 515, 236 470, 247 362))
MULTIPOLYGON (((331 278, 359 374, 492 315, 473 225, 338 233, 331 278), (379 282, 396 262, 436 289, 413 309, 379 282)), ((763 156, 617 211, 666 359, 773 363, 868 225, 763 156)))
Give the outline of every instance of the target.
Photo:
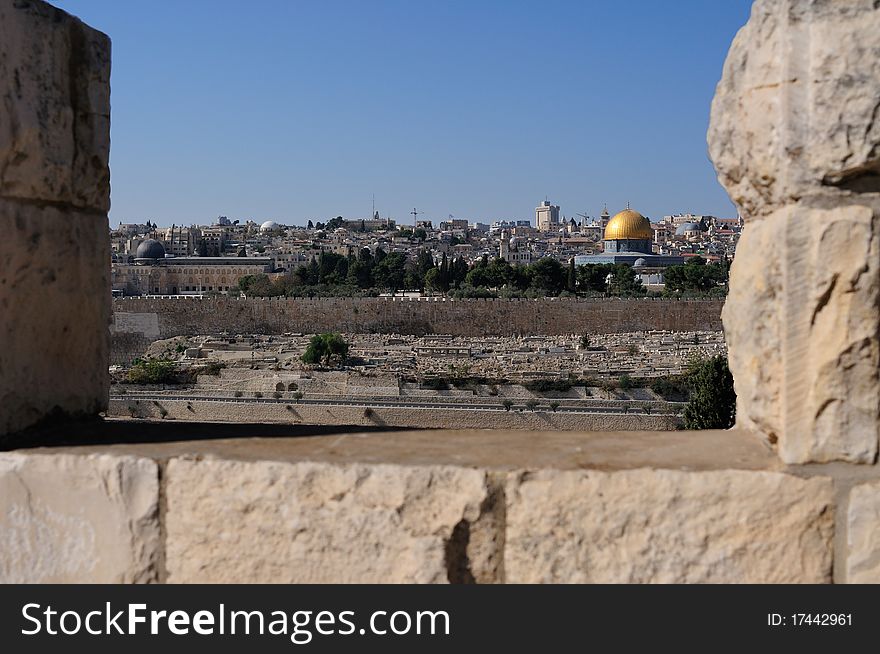
POLYGON ((654 230, 651 221, 627 206, 608 221, 603 234, 602 254, 579 254, 576 266, 588 263, 623 263, 635 267, 665 268, 684 263, 679 256, 654 254, 651 241, 654 230))

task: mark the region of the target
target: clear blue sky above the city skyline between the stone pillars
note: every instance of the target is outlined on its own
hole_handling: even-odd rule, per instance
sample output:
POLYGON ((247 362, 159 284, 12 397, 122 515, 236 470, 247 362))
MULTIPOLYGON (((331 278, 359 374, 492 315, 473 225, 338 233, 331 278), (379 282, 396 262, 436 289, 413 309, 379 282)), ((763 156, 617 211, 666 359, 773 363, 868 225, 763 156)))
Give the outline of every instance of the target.
POLYGON ((735 216, 709 104, 748 0, 55 0, 113 39, 111 224, 735 216))

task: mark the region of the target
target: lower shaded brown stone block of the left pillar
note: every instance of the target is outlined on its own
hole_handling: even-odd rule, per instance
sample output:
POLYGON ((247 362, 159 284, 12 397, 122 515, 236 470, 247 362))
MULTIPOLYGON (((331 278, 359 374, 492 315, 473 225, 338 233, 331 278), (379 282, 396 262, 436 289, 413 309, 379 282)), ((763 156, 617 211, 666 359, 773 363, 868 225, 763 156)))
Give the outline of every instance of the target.
POLYGON ((109 394, 106 219, 0 199, 0 437, 109 394))

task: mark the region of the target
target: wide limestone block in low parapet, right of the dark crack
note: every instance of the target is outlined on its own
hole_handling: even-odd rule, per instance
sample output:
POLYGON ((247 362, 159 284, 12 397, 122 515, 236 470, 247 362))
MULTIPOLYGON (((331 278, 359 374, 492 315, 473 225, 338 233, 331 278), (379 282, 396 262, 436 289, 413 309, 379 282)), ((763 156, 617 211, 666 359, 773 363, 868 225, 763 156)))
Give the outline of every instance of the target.
POLYGON ((508 583, 820 583, 832 482, 744 470, 508 478, 508 583))

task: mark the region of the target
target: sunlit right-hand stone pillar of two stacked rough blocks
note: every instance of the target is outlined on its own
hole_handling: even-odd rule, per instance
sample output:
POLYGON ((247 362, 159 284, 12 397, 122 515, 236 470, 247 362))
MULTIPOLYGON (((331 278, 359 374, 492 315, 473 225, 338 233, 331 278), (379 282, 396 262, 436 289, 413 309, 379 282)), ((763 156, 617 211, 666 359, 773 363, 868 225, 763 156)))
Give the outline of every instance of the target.
POLYGON ((724 307, 737 420, 791 463, 880 434, 880 5, 757 0, 709 152, 746 226, 724 307))

